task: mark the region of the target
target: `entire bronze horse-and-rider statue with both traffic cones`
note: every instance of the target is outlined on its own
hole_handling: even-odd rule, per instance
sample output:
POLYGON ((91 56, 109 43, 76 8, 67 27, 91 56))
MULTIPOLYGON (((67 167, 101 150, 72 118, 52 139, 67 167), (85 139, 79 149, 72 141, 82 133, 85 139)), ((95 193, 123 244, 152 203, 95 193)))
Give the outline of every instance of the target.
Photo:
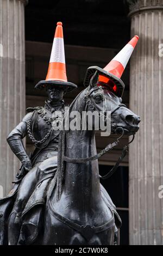
POLYGON ((95 122, 91 130, 88 125, 80 130, 64 128, 67 119, 62 97, 64 92, 77 86, 65 77, 63 54, 58 50, 63 46, 61 22, 57 25, 47 78, 36 85, 36 88, 46 88, 45 107, 28 109, 29 113, 8 136, 12 151, 23 165, 14 188, 0 200, 0 244, 118 245, 121 218, 100 179, 109 178, 116 171, 128 145, 105 176, 99 175, 98 159, 116 147, 124 134, 134 138, 139 130, 139 116, 121 99, 124 90, 121 75, 138 36, 104 69, 97 66, 87 69, 86 88, 70 105, 68 123, 72 121, 73 111, 80 115, 84 111, 96 111, 99 118, 102 112, 104 123, 107 113, 111 113, 111 132, 117 134, 117 139, 97 154, 95 122), (61 120, 55 114, 57 111, 63 114, 61 120), (55 124, 60 121, 63 129, 55 130, 55 124), (30 157, 22 144, 27 134, 35 145, 30 157))

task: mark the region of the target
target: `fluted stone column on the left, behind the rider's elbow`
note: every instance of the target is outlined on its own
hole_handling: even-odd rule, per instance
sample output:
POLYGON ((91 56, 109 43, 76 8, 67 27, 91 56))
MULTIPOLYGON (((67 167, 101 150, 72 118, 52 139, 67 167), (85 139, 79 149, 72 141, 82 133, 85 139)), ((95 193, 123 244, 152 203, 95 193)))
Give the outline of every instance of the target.
POLYGON ((9 191, 20 163, 6 138, 26 107, 24 4, 0 0, 0 197, 9 191))

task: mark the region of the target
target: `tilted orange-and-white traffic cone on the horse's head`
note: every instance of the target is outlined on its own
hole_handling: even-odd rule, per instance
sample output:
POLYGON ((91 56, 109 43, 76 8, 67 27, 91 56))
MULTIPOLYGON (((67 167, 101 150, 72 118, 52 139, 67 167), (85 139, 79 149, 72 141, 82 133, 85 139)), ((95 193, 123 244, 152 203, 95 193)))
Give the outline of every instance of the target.
POLYGON ((139 40, 139 36, 135 35, 126 46, 105 66, 104 69, 101 69, 97 66, 90 66, 87 69, 85 76, 85 86, 90 82, 90 79, 96 71, 98 71, 98 83, 97 85, 109 86, 112 88, 115 94, 122 96, 124 90, 124 83, 120 79, 126 65, 129 61, 131 54, 134 51, 134 48, 139 40))

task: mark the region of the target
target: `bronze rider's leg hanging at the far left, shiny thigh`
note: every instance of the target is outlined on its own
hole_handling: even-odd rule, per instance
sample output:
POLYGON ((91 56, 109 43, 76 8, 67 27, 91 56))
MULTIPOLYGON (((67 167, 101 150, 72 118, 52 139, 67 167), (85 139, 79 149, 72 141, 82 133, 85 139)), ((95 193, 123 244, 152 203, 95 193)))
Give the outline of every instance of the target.
POLYGON ((24 206, 27 203, 30 195, 32 194, 37 179, 36 179, 36 171, 39 164, 36 164, 32 170, 30 170, 26 176, 24 176, 21 181, 20 187, 18 188, 17 197, 15 200, 14 207, 9 216, 8 222, 8 241, 9 245, 17 245, 18 237, 20 235, 21 229, 21 215, 24 209, 24 206))

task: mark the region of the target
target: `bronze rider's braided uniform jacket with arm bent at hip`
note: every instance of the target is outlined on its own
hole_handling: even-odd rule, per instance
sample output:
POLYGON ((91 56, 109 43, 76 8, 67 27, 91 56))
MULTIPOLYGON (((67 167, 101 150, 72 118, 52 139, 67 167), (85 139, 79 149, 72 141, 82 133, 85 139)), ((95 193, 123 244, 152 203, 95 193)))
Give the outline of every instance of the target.
POLYGON ((56 124, 61 121, 58 111, 62 114, 64 113, 64 101, 60 101, 53 106, 46 101, 44 107, 28 108, 27 111, 28 114, 10 132, 7 141, 22 163, 32 160, 34 165, 49 156, 53 156, 54 151, 58 151, 59 130, 54 130, 53 127, 57 126, 56 124), (35 150, 30 160, 22 142, 22 139, 27 134, 35 145, 35 150))

